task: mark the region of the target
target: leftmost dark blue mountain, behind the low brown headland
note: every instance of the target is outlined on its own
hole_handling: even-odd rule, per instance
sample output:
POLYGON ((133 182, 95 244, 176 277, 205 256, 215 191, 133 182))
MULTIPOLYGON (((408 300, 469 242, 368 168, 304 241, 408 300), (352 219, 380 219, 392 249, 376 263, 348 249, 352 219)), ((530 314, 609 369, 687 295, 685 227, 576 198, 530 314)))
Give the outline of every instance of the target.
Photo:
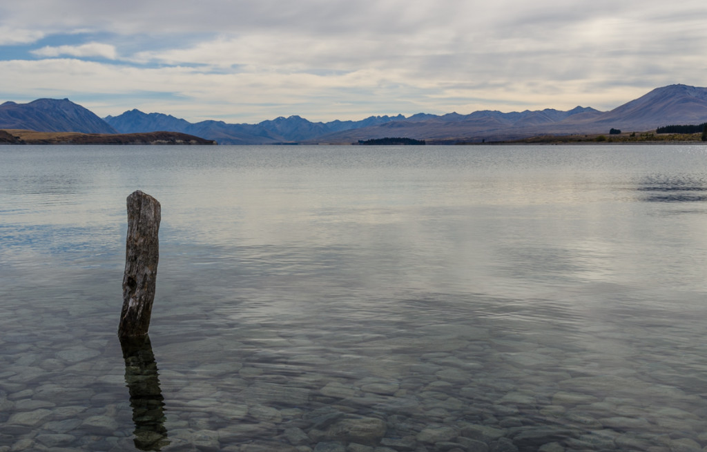
POLYGON ((103 119, 69 99, 37 99, 0 105, 0 129, 42 132, 117 133, 103 119))

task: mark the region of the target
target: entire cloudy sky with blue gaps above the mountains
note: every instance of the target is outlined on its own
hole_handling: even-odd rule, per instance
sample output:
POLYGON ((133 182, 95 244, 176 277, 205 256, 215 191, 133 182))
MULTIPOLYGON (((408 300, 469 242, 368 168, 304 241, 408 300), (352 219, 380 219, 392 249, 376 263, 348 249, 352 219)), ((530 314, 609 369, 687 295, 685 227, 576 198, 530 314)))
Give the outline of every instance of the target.
POLYGON ((22 0, 0 4, 0 102, 99 116, 312 121, 607 110, 707 86, 703 0, 22 0))

